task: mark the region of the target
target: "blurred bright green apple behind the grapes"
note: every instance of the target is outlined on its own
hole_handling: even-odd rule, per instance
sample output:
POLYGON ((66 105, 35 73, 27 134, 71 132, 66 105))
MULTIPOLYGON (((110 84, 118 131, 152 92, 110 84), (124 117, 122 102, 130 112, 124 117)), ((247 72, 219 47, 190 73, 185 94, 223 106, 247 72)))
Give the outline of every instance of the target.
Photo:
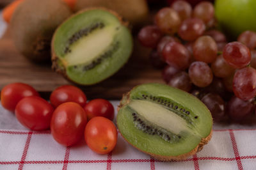
POLYGON ((232 39, 243 31, 256 31, 256 0, 216 0, 215 15, 232 39))

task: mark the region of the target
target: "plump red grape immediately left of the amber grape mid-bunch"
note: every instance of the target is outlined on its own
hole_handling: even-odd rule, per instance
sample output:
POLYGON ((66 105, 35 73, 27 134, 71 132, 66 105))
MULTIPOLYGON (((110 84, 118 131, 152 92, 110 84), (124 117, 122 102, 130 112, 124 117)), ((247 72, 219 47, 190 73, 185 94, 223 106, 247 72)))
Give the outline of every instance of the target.
POLYGON ((186 69, 189 66, 189 51, 181 43, 166 43, 162 55, 168 65, 177 66, 180 69, 186 69))

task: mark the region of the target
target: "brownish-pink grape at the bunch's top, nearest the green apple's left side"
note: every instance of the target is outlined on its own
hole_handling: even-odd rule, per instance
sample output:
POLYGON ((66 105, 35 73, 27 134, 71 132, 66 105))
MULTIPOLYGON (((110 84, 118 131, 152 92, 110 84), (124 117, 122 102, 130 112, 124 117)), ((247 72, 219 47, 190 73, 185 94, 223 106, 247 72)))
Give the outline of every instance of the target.
POLYGON ((214 6, 212 3, 203 1, 197 4, 193 11, 193 17, 202 19, 205 23, 214 17, 214 6))

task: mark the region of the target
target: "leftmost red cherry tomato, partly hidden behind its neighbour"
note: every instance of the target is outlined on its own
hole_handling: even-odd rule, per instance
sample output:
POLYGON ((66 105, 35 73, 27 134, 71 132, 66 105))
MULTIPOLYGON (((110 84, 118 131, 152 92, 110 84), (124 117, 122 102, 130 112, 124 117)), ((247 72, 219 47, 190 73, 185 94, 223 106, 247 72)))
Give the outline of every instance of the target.
POLYGON ((1 103, 5 109, 13 112, 22 98, 31 96, 39 97, 39 94, 28 84, 16 82, 4 86, 1 91, 1 103))

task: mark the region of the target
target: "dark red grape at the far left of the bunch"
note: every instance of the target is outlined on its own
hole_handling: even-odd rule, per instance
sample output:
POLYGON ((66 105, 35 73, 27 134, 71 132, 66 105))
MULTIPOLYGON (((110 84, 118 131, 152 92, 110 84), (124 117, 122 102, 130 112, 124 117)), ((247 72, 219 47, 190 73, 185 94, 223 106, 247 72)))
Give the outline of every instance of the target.
POLYGON ((157 26, 145 26, 140 30, 138 34, 138 39, 140 43, 145 47, 150 47, 152 49, 156 48, 157 43, 162 37, 161 31, 157 26))

